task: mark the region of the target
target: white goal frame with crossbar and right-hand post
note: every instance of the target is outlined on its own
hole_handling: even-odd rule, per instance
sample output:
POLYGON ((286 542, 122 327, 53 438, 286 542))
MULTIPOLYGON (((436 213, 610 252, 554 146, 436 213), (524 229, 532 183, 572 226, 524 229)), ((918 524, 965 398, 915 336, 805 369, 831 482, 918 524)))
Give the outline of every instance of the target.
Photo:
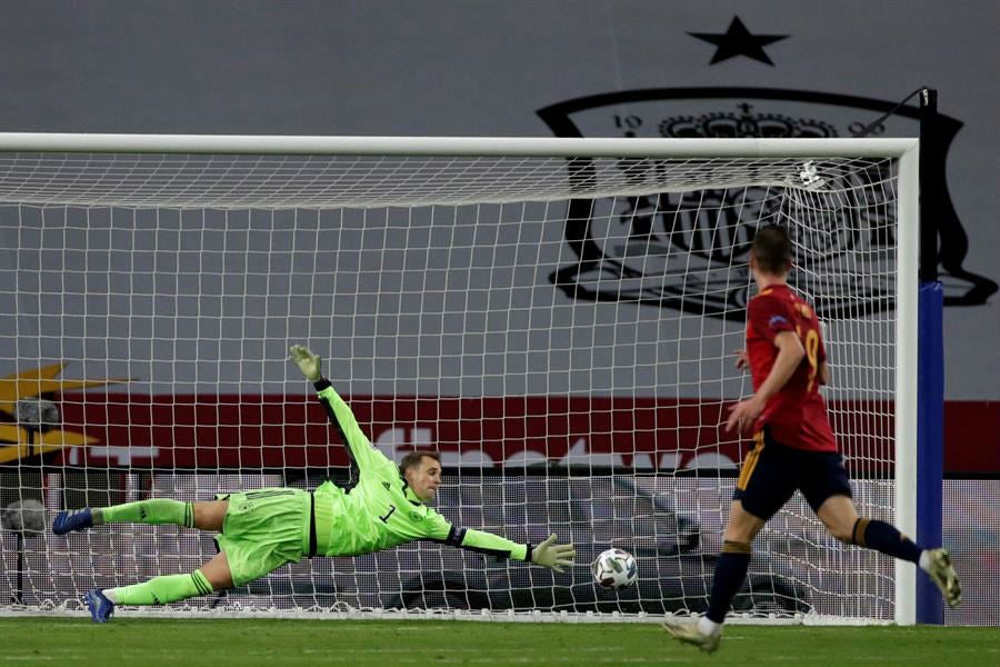
MULTIPOLYGON (((921 141, 917 138, 651 139, 499 137, 308 137, 0 132, 2 152, 480 156, 592 158, 898 159, 896 295, 896 525, 918 532, 918 270, 921 250, 921 141)), ((926 243, 924 243, 926 245, 926 243)), ((940 408, 939 408, 940 409, 940 408)), ((940 449, 940 442, 938 442, 940 449)), ((938 454, 940 456, 940 454, 938 454)), ((930 479, 933 482, 933 478, 930 479)), ((938 489, 940 497, 940 489, 938 489)), ((940 507, 938 508, 940 512, 940 507)), ((931 537, 932 539, 932 537, 931 537)), ((940 540, 940 535, 938 536, 940 540)), ((929 545, 937 546, 937 544, 929 545)), ((917 623, 917 570, 896 561, 894 620, 917 623)))

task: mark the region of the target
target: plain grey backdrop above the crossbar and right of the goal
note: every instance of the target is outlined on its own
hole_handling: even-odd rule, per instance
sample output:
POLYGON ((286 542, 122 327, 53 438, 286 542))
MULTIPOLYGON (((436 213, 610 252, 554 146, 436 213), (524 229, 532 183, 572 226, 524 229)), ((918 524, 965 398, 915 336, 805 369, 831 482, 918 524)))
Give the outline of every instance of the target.
MULTIPOLYGON (((551 136, 537 111, 588 94, 897 100, 927 83, 964 123, 948 160, 963 266, 996 281, 998 24, 989 0, 6 2, 0 130, 551 136), (717 47, 689 34, 726 33, 736 16, 784 36, 762 46, 772 64, 711 63, 717 47)), ((998 302, 948 309, 948 398, 1000 400, 998 302)))

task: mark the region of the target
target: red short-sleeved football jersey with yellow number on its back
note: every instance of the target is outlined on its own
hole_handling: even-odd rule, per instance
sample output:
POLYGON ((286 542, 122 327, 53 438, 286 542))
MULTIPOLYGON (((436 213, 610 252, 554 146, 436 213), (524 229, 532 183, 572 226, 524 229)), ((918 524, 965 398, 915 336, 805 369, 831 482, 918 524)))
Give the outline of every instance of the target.
POLYGON ((753 430, 764 426, 781 445, 813 451, 836 451, 837 441, 819 394, 819 366, 827 358, 819 320, 812 308, 787 285, 768 287, 747 308, 747 356, 757 391, 778 358, 774 337, 792 331, 802 341, 806 357, 788 382, 772 396, 753 430))

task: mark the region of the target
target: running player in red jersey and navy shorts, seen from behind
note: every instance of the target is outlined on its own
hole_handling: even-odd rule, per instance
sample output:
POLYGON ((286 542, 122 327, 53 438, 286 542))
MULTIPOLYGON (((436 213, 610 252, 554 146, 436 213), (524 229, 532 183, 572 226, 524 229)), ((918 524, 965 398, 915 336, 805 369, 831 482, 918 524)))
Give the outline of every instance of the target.
POLYGON ((952 607, 961 587, 944 549, 924 549, 893 526, 858 516, 843 459, 819 394, 829 379, 827 352, 812 307, 788 286, 792 247, 777 225, 760 229, 750 251, 758 293, 747 308, 747 349, 753 396, 729 410, 727 430, 752 434, 740 469, 716 565, 709 610, 698 621, 668 621, 677 639, 713 651, 733 596, 747 576, 754 536, 796 489, 839 540, 916 563, 952 607))

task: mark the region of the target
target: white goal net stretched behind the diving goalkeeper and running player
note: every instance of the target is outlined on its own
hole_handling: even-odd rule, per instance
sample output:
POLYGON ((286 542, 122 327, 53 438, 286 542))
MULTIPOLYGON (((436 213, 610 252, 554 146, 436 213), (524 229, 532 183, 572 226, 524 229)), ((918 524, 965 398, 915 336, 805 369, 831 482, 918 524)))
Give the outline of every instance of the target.
MULTIPOLYGON (((772 222, 824 326, 859 509, 906 531, 913 141, 128 139, 0 137, 8 610, 80 609, 91 588, 216 552, 174 526, 57 537, 61 509, 346 481, 287 360, 301 342, 386 456, 441 452, 446 518, 554 532, 578 565, 414 542, 173 611, 704 611, 748 450, 723 426, 752 391, 733 364, 749 246, 772 222), (593 583, 611 547, 636 556, 636 586, 593 583)), ((734 614, 892 620, 900 576, 797 495, 757 538, 734 614)))

